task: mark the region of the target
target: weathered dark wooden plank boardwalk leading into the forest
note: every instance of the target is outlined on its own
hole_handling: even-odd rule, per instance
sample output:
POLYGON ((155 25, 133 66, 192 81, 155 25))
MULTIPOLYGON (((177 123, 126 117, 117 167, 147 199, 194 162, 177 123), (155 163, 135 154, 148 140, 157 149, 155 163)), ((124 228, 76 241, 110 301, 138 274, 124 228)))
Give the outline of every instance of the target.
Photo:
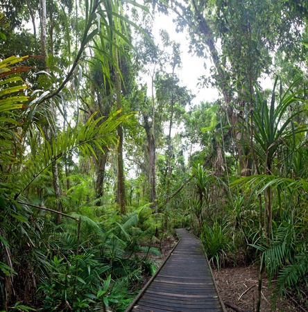
POLYGON ((200 240, 176 232, 180 242, 126 312, 226 311, 200 240))

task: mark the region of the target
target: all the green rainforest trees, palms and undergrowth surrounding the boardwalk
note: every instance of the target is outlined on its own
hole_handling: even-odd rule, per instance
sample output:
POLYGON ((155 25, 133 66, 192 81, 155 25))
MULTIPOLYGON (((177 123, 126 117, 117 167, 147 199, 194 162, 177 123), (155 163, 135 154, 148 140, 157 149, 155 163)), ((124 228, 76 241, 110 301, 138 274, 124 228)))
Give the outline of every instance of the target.
POLYGON ((0 310, 124 311, 176 227, 218 268, 255 263, 260 300, 266 274, 308 302, 307 18, 298 0, 2 0, 0 310), (215 101, 182 83, 171 27, 215 101))

